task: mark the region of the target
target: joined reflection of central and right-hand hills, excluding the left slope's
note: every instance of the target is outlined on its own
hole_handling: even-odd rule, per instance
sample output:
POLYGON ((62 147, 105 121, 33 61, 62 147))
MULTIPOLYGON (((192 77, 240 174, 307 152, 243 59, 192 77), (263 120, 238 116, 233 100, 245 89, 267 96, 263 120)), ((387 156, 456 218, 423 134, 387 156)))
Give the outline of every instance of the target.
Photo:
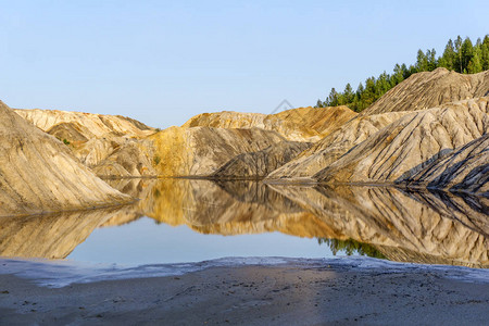
POLYGON ((489 267, 486 198, 385 187, 152 181, 112 186, 141 199, 133 206, 137 216, 203 234, 351 239, 393 261, 489 267))

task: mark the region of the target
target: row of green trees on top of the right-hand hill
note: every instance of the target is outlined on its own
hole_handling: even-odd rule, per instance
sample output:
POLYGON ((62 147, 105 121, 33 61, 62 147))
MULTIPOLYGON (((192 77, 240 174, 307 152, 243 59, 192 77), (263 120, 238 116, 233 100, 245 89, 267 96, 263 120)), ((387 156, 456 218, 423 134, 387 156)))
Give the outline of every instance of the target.
POLYGON ((478 38, 475 45, 468 37, 462 39, 457 36, 455 41, 450 39, 440 57, 437 57, 435 49, 425 52, 419 49, 415 64, 410 66, 404 63, 396 64, 391 74, 384 72, 377 78, 372 76, 365 84, 360 83, 355 91, 350 84, 347 84, 342 92, 331 88, 329 96, 324 101, 317 100, 315 106, 348 105, 360 112, 412 74, 431 72, 437 67, 446 67, 462 74, 476 74, 489 70, 489 35, 486 35, 484 40, 478 38))

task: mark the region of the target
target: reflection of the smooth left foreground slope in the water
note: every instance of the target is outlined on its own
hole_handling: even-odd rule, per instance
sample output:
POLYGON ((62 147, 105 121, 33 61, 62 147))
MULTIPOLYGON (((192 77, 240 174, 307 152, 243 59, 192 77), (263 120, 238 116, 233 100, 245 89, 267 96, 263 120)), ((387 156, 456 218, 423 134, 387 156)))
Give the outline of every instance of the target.
POLYGON ((0 255, 64 259, 122 208, 0 218, 0 255))

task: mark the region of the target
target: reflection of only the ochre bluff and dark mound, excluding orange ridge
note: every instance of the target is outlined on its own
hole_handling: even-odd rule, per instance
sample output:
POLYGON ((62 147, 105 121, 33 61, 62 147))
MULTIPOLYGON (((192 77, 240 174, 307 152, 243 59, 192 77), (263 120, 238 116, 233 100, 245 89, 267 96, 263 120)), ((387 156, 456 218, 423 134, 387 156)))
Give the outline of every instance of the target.
POLYGON ((259 187, 258 183, 222 183, 220 186, 206 180, 163 180, 153 193, 159 196, 147 201, 149 216, 172 225, 186 224, 205 234, 269 231, 271 224, 280 216, 303 213, 290 200, 263 185, 259 187), (236 190, 238 198, 229 190, 236 190))

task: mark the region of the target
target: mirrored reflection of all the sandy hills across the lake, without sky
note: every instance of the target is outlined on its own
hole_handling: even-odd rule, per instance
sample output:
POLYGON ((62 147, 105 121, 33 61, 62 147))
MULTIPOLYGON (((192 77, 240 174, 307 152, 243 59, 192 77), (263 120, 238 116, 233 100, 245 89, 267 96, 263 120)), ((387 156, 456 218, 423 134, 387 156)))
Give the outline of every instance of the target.
POLYGON ((486 198, 380 187, 268 186, 195 179, 110 180, 140 199, 117 210, 0 220, 0 255, 65 258, 97 227, 149 216, 200 234, 278 231, 335 253, 488 267, 486 198))

